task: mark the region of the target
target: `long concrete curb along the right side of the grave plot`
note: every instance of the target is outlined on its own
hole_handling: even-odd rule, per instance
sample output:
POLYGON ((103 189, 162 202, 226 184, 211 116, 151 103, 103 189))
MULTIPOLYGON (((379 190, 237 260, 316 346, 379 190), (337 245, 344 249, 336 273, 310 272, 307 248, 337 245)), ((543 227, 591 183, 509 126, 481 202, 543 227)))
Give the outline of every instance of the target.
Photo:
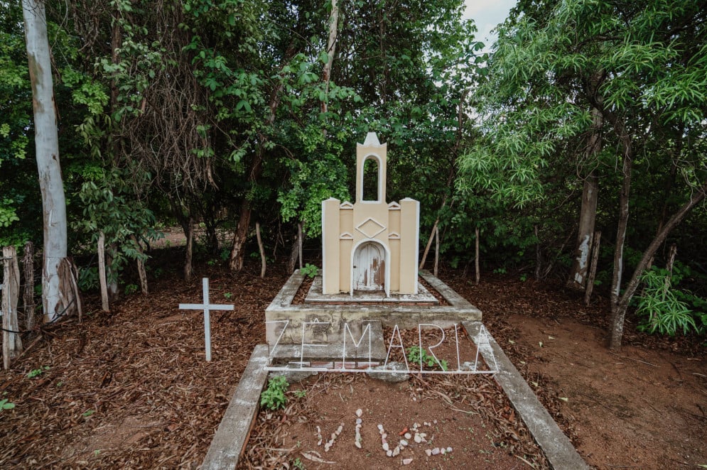
MULTIPOLYGON (((482 324, 481 322, 463 322, 463 325, 469 337, 475 339, 482 324)), ((573 447, 570 439, 560 430, 518 369, 504 354, 501 346, 490 334, 487 337, 491 351, 486 348, 479 348, 479 351, 487 364, 492 361, 490 354, 492 352, 499 369, 499 372, 495 374, 496 381, 508 395, 513 407, 533 435, 535 442, 543 449, 552 468, 557 470, 589 469, 589 466, 573 447)))

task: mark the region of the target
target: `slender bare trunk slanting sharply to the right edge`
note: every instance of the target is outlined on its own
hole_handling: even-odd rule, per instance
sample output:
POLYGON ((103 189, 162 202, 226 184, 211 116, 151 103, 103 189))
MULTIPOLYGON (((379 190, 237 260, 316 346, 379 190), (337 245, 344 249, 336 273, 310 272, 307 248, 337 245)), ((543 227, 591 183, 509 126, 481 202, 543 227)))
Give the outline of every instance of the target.
POLYGON ((665 241, 666 237, 672 229, 679 224, 682 219, 695 207, 699 202, 701 202, 707 193, 707 182, 702 185, 698 190, 693 191, 690 196, 690 200, 683 204, 678 212, 672 215, 668 222, 665 223, 661 231, 656 234, 653 241, 649 244, 646 251, 644 251, 641 261, 638 262, 636 269, 633 273, 631 280, 626 286, 624 294, 621 296, 620 302, 618 302, 615 308, 615 313, 612 315, 610 322, 610 338, 609 338, 609 348, 610 349, 620 349, 621 338, 623 336, 624 319, 626 316, 626 310, 628 304, 631 301, 636 289, 638 288, 639 281, 643 271, 646 266, 648 266, 648 261, 653 257, 658 247, 665 241))

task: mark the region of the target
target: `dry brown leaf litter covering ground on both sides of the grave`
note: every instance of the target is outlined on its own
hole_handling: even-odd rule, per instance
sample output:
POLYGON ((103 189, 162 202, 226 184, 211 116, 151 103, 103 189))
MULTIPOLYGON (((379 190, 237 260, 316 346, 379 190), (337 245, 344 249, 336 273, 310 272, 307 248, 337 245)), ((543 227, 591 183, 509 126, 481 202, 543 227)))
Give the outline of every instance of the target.
MULTIPOLYGON (((71 319, 44 327, 32 349, 0 372, 1 396, 16 405, 0 411, 0 468, 175 469, 203 461, 254 345, 264 342, 264 309, 288 275, 269 266, 261 280, 257 262, 235 275, 204 265, 185 283, 178 275, 179 248, 153 256, 151 263, 165 274, 151 280, 150 295, 129 295, 109 313, 87 298, 91 313, 81 324, 71 319), (210 278, 212 302, 235 305, 234 312, 212 312, 211 363, 205 361, 203 315, 178 310, 180 302, 201 302, 202 275, 210 278), (27 377, 45 366, 36 378, 27 377)), ((480 286, 460 271, 443 270, 440 278, 480 307, 490 332, 527 380, 538 384, 541 402, 578 443, 571 420, 562 415, 556 382, 530 375, 523 361, 531 353, 514 341, 517 330, 504 317, 572 318, 605 328, 606 301, 582 307, 581 296, 561 285, 510 276, 485 277, 480 286)), ((704 356, 703 339, 650 337, 635 331, 635 321, 627 319, 625 344, 704 356)), ((498 432, 518 433, 514 423, 507 424, 506 407, 497 409, 495 415, 486 412, 498 432)))

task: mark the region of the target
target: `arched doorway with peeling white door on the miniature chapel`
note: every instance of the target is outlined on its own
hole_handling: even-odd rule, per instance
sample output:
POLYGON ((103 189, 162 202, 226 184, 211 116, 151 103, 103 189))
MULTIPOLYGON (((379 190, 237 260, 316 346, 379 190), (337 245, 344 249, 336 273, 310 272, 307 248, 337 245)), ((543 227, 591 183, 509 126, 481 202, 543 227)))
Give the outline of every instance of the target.
POLYGON ((362 240, 351 253, 351 295, 382 290, 390 296, 390 251, 376 240, 362 240))

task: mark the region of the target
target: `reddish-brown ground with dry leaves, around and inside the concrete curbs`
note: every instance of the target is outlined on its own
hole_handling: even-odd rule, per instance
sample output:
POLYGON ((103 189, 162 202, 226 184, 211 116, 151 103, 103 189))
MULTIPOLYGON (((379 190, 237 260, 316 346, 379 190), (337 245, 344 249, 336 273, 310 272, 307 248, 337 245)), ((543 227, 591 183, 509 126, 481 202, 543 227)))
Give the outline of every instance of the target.
MULTIPOLYGON (((274 266, 261 280, 257 262, 237 275, 203 265, 198 266, 195 279, 185 283, 178 277, 181 249, 153 253, 156 259, 149 264, 159 266, 161 275, 151 278, 149 296, 129 295, 109 313, 100 312, 89 296, 92 313, 81 324, 71 320, 23 338, 26 345, 33 344, 31 349, 14 360, 9 371, 0 373, 0 394, 15 404, 12 410, 0 411, 1 468, 174 469, 200 464, 253 346, 264 342, 264 308, 287 275, 274 266), (211 280, 212 302, 235 305, 234 312, 213 315, 211 363, 204 360, 203 315, 178 310, 180 302, 200 301, 203 275, 211 280), (41 373, 28 377, 38 369, 41 373)), ((485 277, 478 286, 458 271, 440 277, 480 307, 491 334, 590 465, 674 469, 707 464, 704 339, 649 337, 635 332, 635 319, 630 317, 624 348, 610 353, 603 341, 608 305, 601 299, 584 307, 578 295, 566 293, 560 285, 522 283, 511 276, 485 277)), ((377 381, 371 385, 363 376, 311 380, 308 386, 314 391, 305 393, 302 400, 311 400, 307 412, 318 412, 313 405, 319 403, 343 410, 348 431, 355 424, 346 403, 353 410, 365 409, 367 420, 387 412, 384 424, 394 435, 415 421, 436 419, 439 425, 442 420, 470 417, 477 421, 458 427, 475 430, 480 449, 502 451, 485 454, 498 460, 475 466, 544 465, 541 459, 528 463, 521 459, 532 458, 531 443, 524 440, 512 409, 497 401, 494 381, 449 385, 414 379, 388 387, 377 381), (359 382, 362 395, 357 395, 359 382), (355 387, 353 394, 350 386, 355 387), (336 390, 332 402, 323 401, 324 394, 317 391, 322 388, 336 390), (374 390, 365 392, 366 388, 374 390), (439 396, 433 390, 447 395, 455 408, 463 406, 460 409, 479 414, 450 411, 445 398, 428 398, 439 396), (455 396, 448 390, 456 390, 455 396), (475 395, 477 391, 481 397, 475 395), (396 410, 405 397, 410 401, 415 394, 426 407, 436 403, 443 409, 429 408, 429 414, 428 408, 396 410), (342 405, 334 405, 336 400, 342 405), (476 430, 486 430, 488 435, 476 430), (507 431, 519 439, 509 437, 507 431), (507 442, 514 444, 504 447, 507 442)), ((290 440, 277 444, 277 449, 309 439, 308 427, 296 427, 307 415, 293 418, 280 413, 269 421, 287 432, 290 440)), ((266 418, 261 414, 259 419, 266 418)), ((332 423, 338 420, 338 415, 332 415, 332 423)), ((331 427, 327 425, 325 431, 332 432, 331 427)), ((367 432, 377 433, 373 428, 367 432)), ((460 430, 454 438, 459 436, 470 439, 472 433, 460 430)), ((369 435, 369 442, 374 438, 369 435)), ((446 444, 443 440, 439 434, 440 445, 446 444)), ((458 442, 450 447, 463 449, 464 445, 458 442)), ((458 468, 455 452, 425 468, 458 468)), ((300 455, 292 454, 289 468, 300 455)), ((301 461, 313 468, 313 462, 301 461)), ((350 468, 365 464, 352 462, 350 468)), ((271 468, 266 461, 259 465, 271 468)))

